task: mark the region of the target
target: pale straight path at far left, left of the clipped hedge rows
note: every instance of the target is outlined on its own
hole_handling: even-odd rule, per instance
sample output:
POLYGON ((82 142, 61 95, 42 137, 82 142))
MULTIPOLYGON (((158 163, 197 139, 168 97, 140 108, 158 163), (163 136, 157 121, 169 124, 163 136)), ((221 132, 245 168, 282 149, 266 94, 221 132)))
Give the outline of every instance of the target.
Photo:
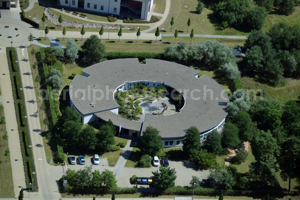
POLYGON ((2 63, 0 68, 2 102, 4 105, 4 115, 8 134, 8 147, 10 150, 10 163, 13 174, 14 194, 15 197, 18 197, 21 187, 26 189, 25 172, 22 161, 18 124, 16 120, 16 111, 13 101, 13 92, 10 82, 10 73, 7 63, 6 51, 5 47, 0 48, 0 60, 2 63))

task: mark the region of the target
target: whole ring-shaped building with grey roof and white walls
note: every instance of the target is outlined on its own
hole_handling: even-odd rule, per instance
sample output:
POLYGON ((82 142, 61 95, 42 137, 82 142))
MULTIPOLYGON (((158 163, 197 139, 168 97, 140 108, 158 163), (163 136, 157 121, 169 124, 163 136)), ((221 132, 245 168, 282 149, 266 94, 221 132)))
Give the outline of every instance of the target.
POLYGON ((203 140, 214 129, 225 123, 229 98, 214 79, 190 67, 174 62, 147 59, 115 59, 92 65, 76 75, 70 84, 70 106, 81 116, 82 123, 104 123, 111 120, 120 134, 140 137, 147 126, 152 126, 162 138, 163 147, 182 146, 185 131, 196 126, 203 140), (141 106, 146 114, 138 121, 118 115, 115 93, 135 85, 165 86, 169 92, 182 96, 182 106, 173 114, 151 114, 151 103, 141 106), (150 112, 149 112, 150 109, 150 112), (121 125, 121 129, 119 129, 121 125))

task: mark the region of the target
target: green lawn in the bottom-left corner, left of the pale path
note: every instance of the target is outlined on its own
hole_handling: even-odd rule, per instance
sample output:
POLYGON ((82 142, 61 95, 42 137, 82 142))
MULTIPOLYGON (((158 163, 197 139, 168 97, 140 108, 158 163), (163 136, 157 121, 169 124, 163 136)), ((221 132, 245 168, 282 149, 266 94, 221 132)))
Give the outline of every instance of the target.
MULTIPOLYGON (((4 116, 4 111, 2 110, 1 115, 4 116)), ((6 132, 5 125, 0 126, 0 198, 13 198, 13 175, 11 171, 10 156, 4 156, 5 150, 8 148, 8 141, 5 142, 2 139, 3 135, 6 132)), ((9 138, 8 138, 9 139, 9 138)))

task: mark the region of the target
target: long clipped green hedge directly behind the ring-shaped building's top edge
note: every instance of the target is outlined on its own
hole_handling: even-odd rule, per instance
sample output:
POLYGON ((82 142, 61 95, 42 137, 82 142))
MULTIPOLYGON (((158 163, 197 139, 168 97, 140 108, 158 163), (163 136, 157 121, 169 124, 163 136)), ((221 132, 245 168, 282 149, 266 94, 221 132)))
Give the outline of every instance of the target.
POLYGON ((164 53, 148 53, 148 52, 105 52, 104 57, 108 60, 121 59, 121 58, 138 58, 144 60, 146 58, 164 59, 164 53))

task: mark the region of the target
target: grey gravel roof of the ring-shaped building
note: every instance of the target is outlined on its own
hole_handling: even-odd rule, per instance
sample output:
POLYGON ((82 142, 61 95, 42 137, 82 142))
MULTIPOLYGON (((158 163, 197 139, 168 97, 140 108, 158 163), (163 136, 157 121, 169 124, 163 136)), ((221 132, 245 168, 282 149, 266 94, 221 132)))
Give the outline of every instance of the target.
MULTIPOLYGON (((94 113, 103 120, 111 119, 116 126, 121 122, 124 128, 138 131, 141 129, 141 123, 126 120, 108 111, 119 107, 114 100, 113 91, 125 82, 138 80, 164 82, 176 89, 186 90, 184 92, 186 104, 181 112, 168 116, 145 116, 142 128, 153 126, 160 131, 163 138, 183 137, 183 130, 190 126, 196 126, 200 132, 207 131, 219 124, 227 115, 225 106, 218 105, 218 102, 229 102, 225 92, 223 99, 221 98, 223 87, 209 76, 194 77, 198 71, 184 65, 157 59, 147 59, 147 64, 140 64, 138 59, 115 59, 92 65, 82 72, 90 76, 76 75, 70 84, 70 98, 74 106, 83 115, 94 113), (110 89, 109 92, 106 90, 107 87, 110 89), (78 89, 81 90, 78 92, 78 89), (87 98, 88 92, 92 94, 98 89, 103 91, 101 95, 104 98, 94 100, 95 107, 92 107, 92 100, 87 98), (194 89, 200 90, 194 92, 194 96, 201 99, 191 98, 190 92, 194 89), (207 96, 204 96, 204 89, 213 91, 213 94, 207 92, 207 96), (204 100, 205 97, 207 100, 204 100)), ((100 92, 96 96, 99 97, 100 92)))

